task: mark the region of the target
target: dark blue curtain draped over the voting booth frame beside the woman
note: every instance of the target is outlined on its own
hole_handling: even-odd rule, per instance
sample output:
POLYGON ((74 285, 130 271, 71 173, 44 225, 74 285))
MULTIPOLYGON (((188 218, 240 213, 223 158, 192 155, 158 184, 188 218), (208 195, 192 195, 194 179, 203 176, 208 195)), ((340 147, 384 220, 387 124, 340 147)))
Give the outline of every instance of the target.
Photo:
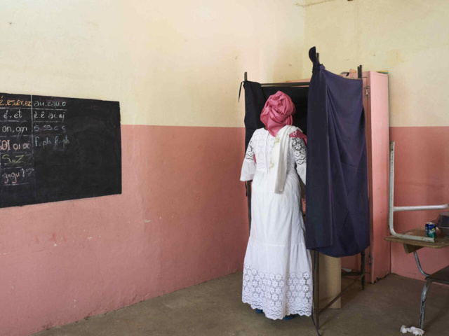
POLYGON ((333 257, 370 244, 363 82, 337 76, 309 51, 306 246, 333 257))

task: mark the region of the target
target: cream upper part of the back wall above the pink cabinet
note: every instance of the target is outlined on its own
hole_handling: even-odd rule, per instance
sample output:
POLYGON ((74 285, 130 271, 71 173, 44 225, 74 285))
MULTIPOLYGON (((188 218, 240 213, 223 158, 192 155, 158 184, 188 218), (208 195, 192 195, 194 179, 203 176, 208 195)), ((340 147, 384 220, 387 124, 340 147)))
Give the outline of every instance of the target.
MULTIPOLYGON (((449 1, 307 3, 304 46, 326 69, 390 71, 390 126, 449 125, 449 1)), ((305 59, 302 69, 309 76, 305 59)))

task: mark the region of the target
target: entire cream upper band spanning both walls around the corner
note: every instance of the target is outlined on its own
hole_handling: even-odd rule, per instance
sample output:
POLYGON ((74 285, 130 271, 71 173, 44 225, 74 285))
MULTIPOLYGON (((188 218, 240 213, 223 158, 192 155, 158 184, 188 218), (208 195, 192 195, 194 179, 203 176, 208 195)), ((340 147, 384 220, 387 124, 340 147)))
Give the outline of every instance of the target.
POLYGON ((391 126, 449 125, 448 15, 444 0, 6 0, 0 91, 119 100, 123 124, 241 127, 244 71, 308 77, 316 45, 335 73, 390 71, 391 126))

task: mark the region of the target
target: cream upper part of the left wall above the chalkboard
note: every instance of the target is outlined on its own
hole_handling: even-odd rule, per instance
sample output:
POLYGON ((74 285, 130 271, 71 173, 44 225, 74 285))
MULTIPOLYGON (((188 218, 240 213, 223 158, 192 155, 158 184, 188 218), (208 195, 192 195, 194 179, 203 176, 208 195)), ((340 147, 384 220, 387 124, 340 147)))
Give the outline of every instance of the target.
POLYGON ((123 124, 242 127, 245 71, 300 78, 297 2, 5 0, 0 92, 118 100, 123 124))

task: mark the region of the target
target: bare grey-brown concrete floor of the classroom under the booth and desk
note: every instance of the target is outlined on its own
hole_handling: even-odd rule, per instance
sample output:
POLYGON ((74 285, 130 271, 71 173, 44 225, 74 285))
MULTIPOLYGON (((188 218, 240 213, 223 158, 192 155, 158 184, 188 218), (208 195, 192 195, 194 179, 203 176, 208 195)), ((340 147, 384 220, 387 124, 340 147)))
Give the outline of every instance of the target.
MULTIPOLYGON (((402 335, 401 325, 418 326, 422 286, 422 281, 394 274, 368 284, 363 292, 356 284, 342 298, 342 309, 321 314, 320 332, 323 336, 402 335)), ((449 335, 448 307, 449 288, 432 285, 425 335, 449 335)), ((272 321, 255 314, 241 302, 240 272, 34 335, 315 336, 316 331, 307 317, 272 321)))

